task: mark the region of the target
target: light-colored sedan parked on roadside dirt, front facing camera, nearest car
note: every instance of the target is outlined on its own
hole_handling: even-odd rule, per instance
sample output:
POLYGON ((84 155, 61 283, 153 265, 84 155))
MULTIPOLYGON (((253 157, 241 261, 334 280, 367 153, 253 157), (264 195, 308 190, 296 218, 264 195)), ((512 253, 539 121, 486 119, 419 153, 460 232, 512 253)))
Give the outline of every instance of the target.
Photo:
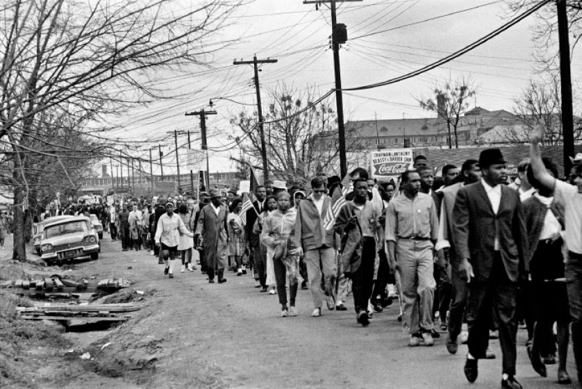
POLYGON ((46 263, 63 262, 81 256, 99 258, 99 235, 85 216, 49 223, 44 226, 40 258, 46 263))

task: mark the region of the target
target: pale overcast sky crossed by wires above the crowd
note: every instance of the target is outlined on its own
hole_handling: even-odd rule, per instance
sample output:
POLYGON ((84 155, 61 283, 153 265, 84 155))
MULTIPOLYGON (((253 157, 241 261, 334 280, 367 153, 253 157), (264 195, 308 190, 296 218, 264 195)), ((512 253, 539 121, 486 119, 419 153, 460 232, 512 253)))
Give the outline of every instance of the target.
MULTIPOLYGON (((338 22, 347 25, 349 38, 340 51, 343 87, 376 83, 423 67, 481 38, 504 24, 507 17, 504 1, 365 0, 343 3, 338 10, 338 22), (449 13, 456 14, 440 17, 449 13), (439 18, 422 22, 433 17, 439 18)), ((173 83, 160 80, 160 88, 184 96, 160 101, 147 109, 135 109, 124 117, 113 119, 124 137, 146 140, 178 129, 196 131, 192 139, 198 139, 199 119, 185 117, 184 113, 210 109, 208 101, 214 98, 218 115, 208 117, 208 145, 217 151, 211 153, 210 171, 231 170, 228 158, 238 156, 238 149, 229 147, 233 140, 228 135, 240 134, 235 133, 228 119, 244 108, 252 110, 250 104, 256 103, 251 80, 253 69, 250 65, 234 66, 234 58, 251 60, 256 53, 258 58, 278 59, 278 63, 261 67, 264 107, 269 89, 278 83, 293 85, 298 90, 315 86, 321 94, 333 88, 333 53, 328 44, 331 13, 326 6, 315 10, 315 5, 305 5, 302 0, 256 0, 239 8, 229 22, 231 26, 222 38, 239 38, 239 42, 206 58, 213 69, 193 68, 191 74, 173 83), (228 97, 237 103, 215 99, 217 97, 228 97)), ((471 76, 477 86, 472 106, 476 103, 488 110, 511 110, 513 99, 526 88, 529 79, 535 77, 533 22, 534 18, 530 17, 458 60, 416 78, 344 94, 346 119, 374 119, 375 115, 378 119, 431 117, 431 113, 419 108, 415 97, 429 97, 435 82, 459 76, 471 76)), ((581 61, 579 56, 574 56, 574 82, 581 74, 581 61)), ((335 99, 331 98, 330 102, 335 107, 335 99)), ((179 143, 185 141, 182 136, 179 143)), ((166 143, 173 147, 173 138, 168 138, 166 143)), ((199 142, 195 144, 199 147, 199 142)), ((164 165, 165 173, 172 172, 175 159, 169 157, 164 165)), ((154 168, 154 174, 157 173, 154 168)))

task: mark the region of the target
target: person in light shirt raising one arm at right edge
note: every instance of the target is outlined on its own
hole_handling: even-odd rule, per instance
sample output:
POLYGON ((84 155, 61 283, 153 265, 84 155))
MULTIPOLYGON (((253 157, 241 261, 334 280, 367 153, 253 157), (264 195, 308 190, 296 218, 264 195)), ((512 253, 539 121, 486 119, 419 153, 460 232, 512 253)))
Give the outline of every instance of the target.
POLYGON ((543 139, 544 125, 540 123, 530 135, 531 167, 540 185, 552 190, 556 201, 565 206, 564 240, 568 251, 565 276, 572 319, 574 359, 578 369, 578 381, 582 383, 582 165, 572 168, 574 174, 571 180, 574 185, 558 181, 547 172, 542 162, 540 142, 543 139))

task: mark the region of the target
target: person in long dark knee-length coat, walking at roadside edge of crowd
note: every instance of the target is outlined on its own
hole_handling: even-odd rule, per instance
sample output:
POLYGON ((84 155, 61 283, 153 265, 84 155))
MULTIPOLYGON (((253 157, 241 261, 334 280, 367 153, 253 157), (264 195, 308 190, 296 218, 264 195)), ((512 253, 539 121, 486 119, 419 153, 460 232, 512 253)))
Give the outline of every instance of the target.
POLYGON ((226 266, 226 247, 228 245, 228 226, 226 220, 228 210, 222 204, 220 192, 210 190, 210 204, 200 210, 196 226, 196 240, 202 238, 204 256, 208 265, 208 282, 214 283, 214 274, 218 283, 226 282, 224 267, 226 266))

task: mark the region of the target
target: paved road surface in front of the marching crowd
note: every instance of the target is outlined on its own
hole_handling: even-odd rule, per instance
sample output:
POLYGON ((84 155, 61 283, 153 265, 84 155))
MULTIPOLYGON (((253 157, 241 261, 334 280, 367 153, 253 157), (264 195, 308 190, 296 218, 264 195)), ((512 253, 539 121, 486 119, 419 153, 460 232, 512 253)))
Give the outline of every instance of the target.
MULTIPOLYGON (((250 274, 237 277, 229 272, 227 283, 209 284, 199 270, 181 274, 176 266, 175 278, 167 279, 157 259, 145 251, 122 252, 119 243, 107 236, 101 258, 83 266, 83 272, 124 276, 138 281, 136 289, 156 290, 139 320, 120 330, 135 341, 155 340, 160 358, 155 373, 143 377, 144 387, 499 387, 497 340, 491 342, 497 360, 481 361, 479 379, 470 385, 463 375, 466 346, 451 356, 443 336, 434 347, 408 347, 395 304, 376 313, 372 324, 363 328, 356 324, 351 301, 347 312, 324 309, 322 317, 310 317, 309 291, 299 290, 299 316, 283 318, 276 295, 253 288, 250 274)), ((547 379, 533 372, 523 346, 525 337, 520 330, 517 378, 524 388, 563 388, 555 383, 556 365, 549 366, 547 379)), ((569 372, 574 376, 570 358, 569 372)), ((133 378, 139 381, 139 374, 133 378)))

